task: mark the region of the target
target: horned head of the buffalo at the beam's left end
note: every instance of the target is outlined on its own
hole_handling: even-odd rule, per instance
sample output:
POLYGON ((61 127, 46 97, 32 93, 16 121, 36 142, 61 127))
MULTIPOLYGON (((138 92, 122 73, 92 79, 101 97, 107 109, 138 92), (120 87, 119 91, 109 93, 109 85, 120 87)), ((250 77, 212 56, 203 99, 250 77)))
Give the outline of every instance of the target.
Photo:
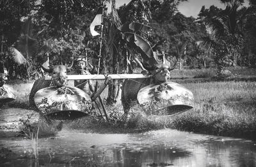
POLYGON ((52 77, 52 83, 55 86, 64 86, 67 83, 67 71, 70 70, 72 66, 73 63, 70 67, 66 65, 54 65, 50 68, 45 68, 41 65, 42 69, 48 72, 52 77))

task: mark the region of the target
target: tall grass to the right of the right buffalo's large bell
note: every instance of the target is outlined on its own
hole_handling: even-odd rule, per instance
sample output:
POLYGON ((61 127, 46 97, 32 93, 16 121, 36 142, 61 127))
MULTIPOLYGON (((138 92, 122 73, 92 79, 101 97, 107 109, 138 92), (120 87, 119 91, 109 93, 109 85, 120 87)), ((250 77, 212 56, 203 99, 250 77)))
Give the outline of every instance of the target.
POLYGON ((184 84, 195 95, 193 110, 170 119, 168 127, 207 134, 256 138, 256 83, 184 84))

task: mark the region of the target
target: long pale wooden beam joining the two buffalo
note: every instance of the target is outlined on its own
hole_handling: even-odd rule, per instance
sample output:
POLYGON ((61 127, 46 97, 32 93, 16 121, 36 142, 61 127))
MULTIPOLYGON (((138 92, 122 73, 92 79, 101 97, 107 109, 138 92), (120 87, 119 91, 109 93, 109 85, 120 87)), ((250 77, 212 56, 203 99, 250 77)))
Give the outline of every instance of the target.
MULTIPOLYGON (((138 79, 138 78, 149 78, 150 76, 144 76, 143 74, 108 74, 111 79, 138 79)), ((68 75, 68 80, 82 80, 82 79, 106 79, 106 76, 99 75, 68 75)), ((45 80, 51 80, 51 77, 45 76, 45 80)))

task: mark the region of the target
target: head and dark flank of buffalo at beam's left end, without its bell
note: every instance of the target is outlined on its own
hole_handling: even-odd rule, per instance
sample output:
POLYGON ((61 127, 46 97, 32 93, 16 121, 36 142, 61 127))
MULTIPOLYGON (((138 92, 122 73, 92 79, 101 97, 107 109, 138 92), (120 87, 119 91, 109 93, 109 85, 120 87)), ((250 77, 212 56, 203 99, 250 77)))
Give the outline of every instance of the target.
POLYGON ((64 86, 67 83, 67 70, 70 70, 72 65, 70 67, 67 67, 66 65, 54 65, 51 68, 44 68, 41 66, 45 72, 49 73, 52 80, 45 81, 45 77, 41 77, 35 81, 29 94, 29 106, 36 109, 34 101, 36 91, 49 86, 64 86))

